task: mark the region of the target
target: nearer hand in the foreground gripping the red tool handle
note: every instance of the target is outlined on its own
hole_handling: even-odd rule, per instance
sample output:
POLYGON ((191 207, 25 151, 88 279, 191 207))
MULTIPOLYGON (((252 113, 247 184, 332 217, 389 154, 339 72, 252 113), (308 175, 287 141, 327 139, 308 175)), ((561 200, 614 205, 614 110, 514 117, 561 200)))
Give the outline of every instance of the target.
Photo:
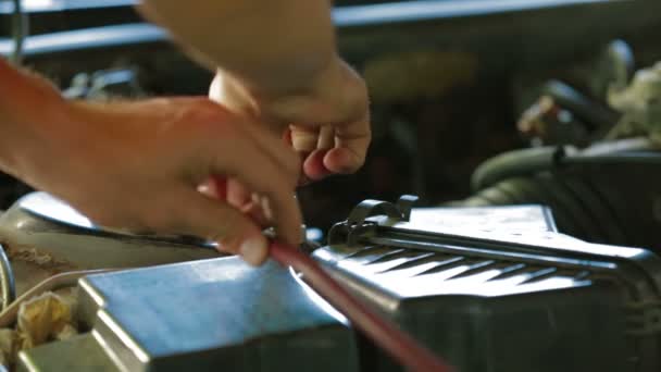
POLYGON ((42 107, 29 117, 40 124, 30 125, 36 129, 9 171, 95 223, 200 236, 260 264, 267 240, 251 211, 266 207, 260 215, 271 218, 278 236, 299 243, 292 195, 300 161, 254 123, 207 98, 42 107), (229 177, 260 203, 239 209, 199 193, 215 176, 229 177))

